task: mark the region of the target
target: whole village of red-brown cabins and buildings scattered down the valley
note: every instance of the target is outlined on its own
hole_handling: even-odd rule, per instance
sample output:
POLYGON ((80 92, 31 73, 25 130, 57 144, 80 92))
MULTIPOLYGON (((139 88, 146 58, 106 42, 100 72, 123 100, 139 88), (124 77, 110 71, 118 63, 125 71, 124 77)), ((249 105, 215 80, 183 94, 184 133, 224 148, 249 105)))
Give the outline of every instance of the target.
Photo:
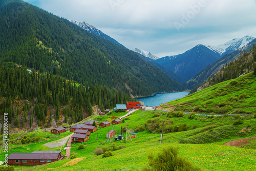
MULTIPOLYGON (((140 106, 140 102, 137 101, 127 101, 125 104, 116 104, 116 108, 114 108, 113 111, 118 110, 125 110, 125 111, 131 111, 135 109, 142 109, 142 106, 140 106)), ((143 109, 142 109, 143 110, 143 109)), ((99 113, 99 115, 106 115, 109 113, 110 110, 105 110, 104 113, 99 113)), ((112 124, 120 124, 122 123, 122 120, 116 119, 112 120, 112 122, 102 122, 99 123, 96 120, 90 120, 85 123, 79 123, 74 126, 69 127, 70 132, 74 132, 74 134, 71 136, 72 143, 82 143, 86 142, 90 139, 90 134, 97 131, 97 126, 100 127, 108 127, 112 124), (95 122, 95 126, 93 126, 95 122)), ((55 129, 51 130, 52 134, 61 134, 68 131, 68 126, 65 127, 57 127, 55 129)), ((110 139, 113 136, 115 136, 115 130, 111 130, 106 134, 106 138, 110 139)), ((118 136, 118 140, 123 139, 122 135, 118 136)), ((62 155, 62 151, 35 151, 32 153, 11 153, 8 156, 8 164, 9 165, 41 165, 41 164, 47 164, 55 161, 59 161, 65 159, 65 155, 62 155)))

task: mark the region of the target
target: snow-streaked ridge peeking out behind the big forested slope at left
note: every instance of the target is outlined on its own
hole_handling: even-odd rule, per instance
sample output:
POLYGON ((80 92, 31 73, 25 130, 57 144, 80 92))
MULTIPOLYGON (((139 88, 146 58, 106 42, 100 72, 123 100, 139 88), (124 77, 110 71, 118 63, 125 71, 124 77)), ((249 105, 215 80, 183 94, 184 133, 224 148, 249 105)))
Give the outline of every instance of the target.
POLYGON ((99 29, 97 29, 96 27, 89 25, 86 22, 78 22, 76 20, 69 20, 71 23, 76 24, 77 26, 79 26, 80 28, 87 30, 89 33, 92 33, 94 35, 100 36, 104 39, 110 40, 111 42, 113 42, 113 44, 119 45, 124 47, 122 44, 120 44, 117 40, 115 40, 114 38, 110 37, 109 35, 106 35, 105 33, 103 33, 102 31, 100 31, 99 29))

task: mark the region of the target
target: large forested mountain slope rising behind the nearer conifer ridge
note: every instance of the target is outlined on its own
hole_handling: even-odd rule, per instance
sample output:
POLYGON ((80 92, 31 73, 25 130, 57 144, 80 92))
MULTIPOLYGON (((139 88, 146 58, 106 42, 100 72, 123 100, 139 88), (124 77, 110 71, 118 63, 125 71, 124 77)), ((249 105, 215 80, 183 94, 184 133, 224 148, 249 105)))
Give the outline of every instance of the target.
POLYGON ((116 90, 126 84, 138 96, 183 89, 136 53, 22 1, 2 3, 0 37, 0 61, 83 84, 116 90))

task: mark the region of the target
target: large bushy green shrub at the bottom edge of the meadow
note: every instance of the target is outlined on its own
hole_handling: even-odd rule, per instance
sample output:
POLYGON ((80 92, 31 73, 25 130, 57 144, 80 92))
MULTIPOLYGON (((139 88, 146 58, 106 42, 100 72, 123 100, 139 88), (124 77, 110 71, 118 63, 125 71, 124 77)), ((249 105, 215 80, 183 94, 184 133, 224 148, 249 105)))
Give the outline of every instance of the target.
POLYGON ((185 158, 178 155, 178 148, 167 147, 163 148, 161 152, 158 153, 157 157, 154 157, 153 153, 148 155, 148 163, 150 167, 144 167, 144 171, 158 171, 158 170, 168 170, 168 171, 199 171, 200 168, 193 166, 185 158))

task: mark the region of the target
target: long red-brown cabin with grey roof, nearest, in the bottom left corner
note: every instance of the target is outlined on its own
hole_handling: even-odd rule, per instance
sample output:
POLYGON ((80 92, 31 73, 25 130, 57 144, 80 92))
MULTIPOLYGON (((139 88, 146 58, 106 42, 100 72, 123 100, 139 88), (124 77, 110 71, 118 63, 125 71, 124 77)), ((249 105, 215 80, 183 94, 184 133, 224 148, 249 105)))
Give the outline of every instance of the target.
POLYGON ((9 165, 41 165, 59 161, 64 158, 62 151, 36 151, 32 153, 11 153, 9 165))

